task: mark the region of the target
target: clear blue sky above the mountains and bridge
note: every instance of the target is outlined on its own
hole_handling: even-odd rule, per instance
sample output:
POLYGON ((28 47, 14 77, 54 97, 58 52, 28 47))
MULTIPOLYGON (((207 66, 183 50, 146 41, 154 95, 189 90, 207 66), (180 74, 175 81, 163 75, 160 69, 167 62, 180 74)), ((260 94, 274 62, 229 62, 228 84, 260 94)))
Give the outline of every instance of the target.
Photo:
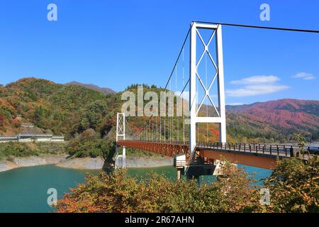
MULTIPOLYGON (((164 87, 191 21, 319 30, 319 1, 0 0, 0 83, 164 87), (57 21, 47 5, 57 4, 57 21), (259 6, 271 21, 260 21, 259 6)), ((319 34, 223 27, 226 103, 319 99, 319 34)))

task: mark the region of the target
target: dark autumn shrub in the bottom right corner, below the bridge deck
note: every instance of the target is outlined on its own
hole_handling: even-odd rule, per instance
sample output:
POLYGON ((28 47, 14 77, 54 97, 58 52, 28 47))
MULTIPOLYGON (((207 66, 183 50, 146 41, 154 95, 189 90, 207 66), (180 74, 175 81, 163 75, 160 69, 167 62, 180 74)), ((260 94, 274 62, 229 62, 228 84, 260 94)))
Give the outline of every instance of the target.
POLYGON ((279 160, 265 181, 270 190, 272 212, 319 212, 318 156, 304 161, 298 157, 279 160))

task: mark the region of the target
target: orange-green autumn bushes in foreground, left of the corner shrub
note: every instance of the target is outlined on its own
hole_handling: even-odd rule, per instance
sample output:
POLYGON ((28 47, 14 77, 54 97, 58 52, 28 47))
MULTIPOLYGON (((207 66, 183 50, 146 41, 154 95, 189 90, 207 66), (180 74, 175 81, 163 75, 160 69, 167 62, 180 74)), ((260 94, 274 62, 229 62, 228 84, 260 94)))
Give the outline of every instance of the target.
POLYGON ((118 170, 87 175, 86 182, 58 201, 57 212, 245 212, 259 209, 257 190, 242 169, 226 164, 227 177, 198 186, 163 175, 145 179, 118 170))

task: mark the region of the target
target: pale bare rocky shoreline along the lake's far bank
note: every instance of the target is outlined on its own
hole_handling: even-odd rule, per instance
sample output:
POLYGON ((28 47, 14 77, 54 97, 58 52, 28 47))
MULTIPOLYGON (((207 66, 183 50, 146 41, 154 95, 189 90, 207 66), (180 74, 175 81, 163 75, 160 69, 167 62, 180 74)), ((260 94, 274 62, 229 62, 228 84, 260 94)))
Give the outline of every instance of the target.
MULTIPOLYGON (((0 160, 0 172, 18 167, 35 165, 56 165, 77 170, 101 170, 111 167, 111 163, 104 162, 101 157, 68 158, 68 155, 40 155, 30 157, 14 157, 12 160, 0 160)), ((161 167, 172 165, 170 157, 126 157, 127 167, 161 167)))

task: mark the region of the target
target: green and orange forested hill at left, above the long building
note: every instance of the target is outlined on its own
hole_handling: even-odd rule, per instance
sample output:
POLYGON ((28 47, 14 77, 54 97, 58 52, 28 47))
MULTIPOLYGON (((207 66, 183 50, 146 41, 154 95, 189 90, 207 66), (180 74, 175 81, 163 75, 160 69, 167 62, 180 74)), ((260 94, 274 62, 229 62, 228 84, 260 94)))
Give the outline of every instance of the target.
POLYGON ((67 138, 88 128, 105 135, 114 124, 117 105, 121 103, 116 94, 46 79, 19 79, 0 87, 0 135, 21 132, 22 122, 67 138))

